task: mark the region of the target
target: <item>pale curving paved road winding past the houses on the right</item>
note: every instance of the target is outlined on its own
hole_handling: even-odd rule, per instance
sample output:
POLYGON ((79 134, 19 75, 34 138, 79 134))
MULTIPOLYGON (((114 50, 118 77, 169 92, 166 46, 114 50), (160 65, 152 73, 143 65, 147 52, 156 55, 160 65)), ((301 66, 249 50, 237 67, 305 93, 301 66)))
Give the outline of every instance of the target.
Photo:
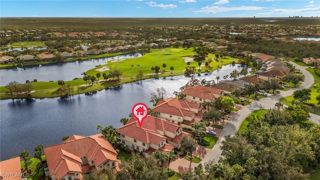
MULTIPOLYGON (((264 97, 258 101, 251 102, 249 105, 245 106, 244 108, 238 110, 236 113, 234 113, 229 119, 227 124, 224 126, 223 131, 212 148, 212 150, 204 157, 204 159, 200 162, 202 165, 205 162, 208 162, 210 160, 214 160, 217 162, 219 158, 221 158, 221 152, 220 146, 222 145, 222 141, 224 140, 224 137, 226 135, 233 135, 240 127, 242 121, 254 110, 260 109, 260 106, 262 106, 263 109, 269 109, 273 108, 274 104, 279 101, 281 97, 289 96, 293 94, 294 90, 302 89, 302 88, 309 88, 314 84, 314 78, 312 74, 305 70, 305 66, 297 65, 293 62, 290 62, 291 64, 295 65, 296 68, 299 68, 300 71, 304 74, 304 82, 300 84, 296 88, 291 88, 287 91, 281 91, 280 94, 271 95, 268 97, 264 97)), ((312 114, 310 113, 309 121, 312 121, 314 123, 319 124, 320 123, 320 115, 312 114)))

